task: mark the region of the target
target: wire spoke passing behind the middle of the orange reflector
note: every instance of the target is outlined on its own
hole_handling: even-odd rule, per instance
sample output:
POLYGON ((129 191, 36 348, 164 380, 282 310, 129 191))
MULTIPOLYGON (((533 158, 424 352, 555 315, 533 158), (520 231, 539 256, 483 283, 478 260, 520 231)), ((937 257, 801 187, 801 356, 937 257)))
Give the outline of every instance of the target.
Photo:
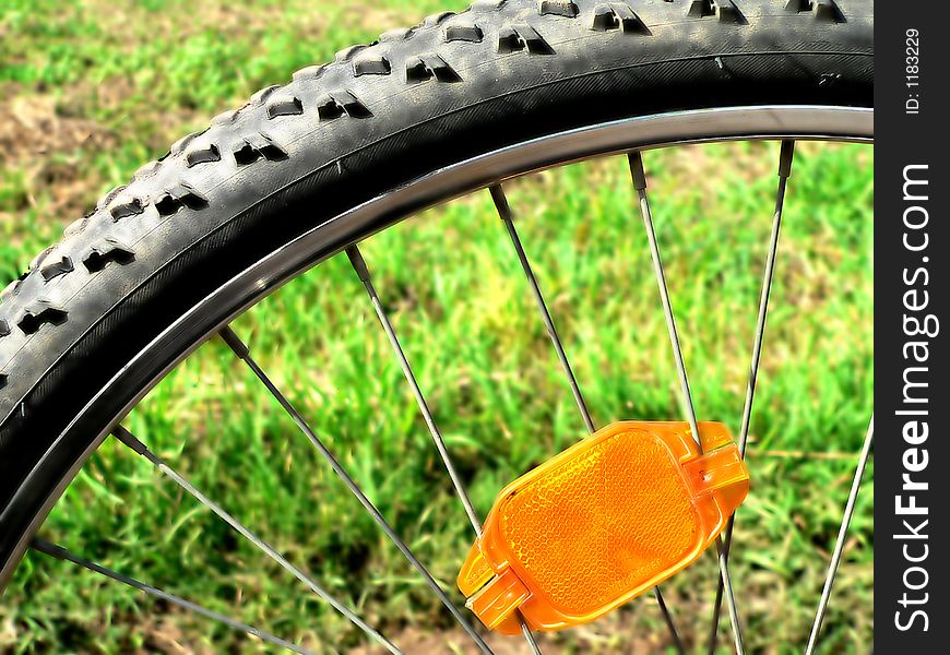
MULTIPOLYGON (((563 345, 561 344, 560 336, 558 336, 557 327, 555 327, 550 310, 548 309, 547 303, 544 300, 544 295, 541 293, 541 286, 538 285, 537 277, 534 275, 534 271, 531 267, 531 262, 527 259, 527 254, 524 252, 524 246, 521 242, 521 238, 518 236, 518 229, 514 227, 514 219, 512 217, 511 206, 508 204, 508 198, 504 195, 504 190, 501 188, 501 184, 495 184, 490 188, 489 191, 491 193, 491 200, 495 202, 495 207, 498 210, 498 215, 501 218, 502 223, 504 223, 504 227, 508 229, 508 236, 511 237, 511 243, 514 247, 515 253, 518 254, 518 260, 521 262, 521 267, 524 271, 524 276, 527 278, 529 286, 531 287, 531 293, 534 296, 535 302, 537 303, 538 312, 541 313, 542 321, 544 321, 544 325, 547 329, 547 334, 550 337, 551 345, 554 345, 558 360, 560 361, 561 368, 565 371, 565 376, 568 379, 568 384, 571 388, 571 393, 574 396, 574 402, 578 404, 578 410, 581 413, 581 418, 584 421, 584 426, 587 428, 589 432, 594 432, 596 431, 594 420, 593 418, 591 418, 591 413, 587 409, 587 403, 584 401, 584 396, 581 393, 580 386, 578 385, 578 380, 574 376, 574 371, 571 369, 571 364, 568 360, 567 353, 565 352, 563 345)), ((686 651, 684 650, 682 641, 679 639, 679 632, 677 631, 676 623, 673 620, 673 614, 669 611, 669 608, 666 606, 666 602, 663 599, 663 593, 660 591, 660 586, 653 587, 653 596, 656 598, 660 610, 663 612, 663 619, 666 621, 666 626, 669 629, 669 634, 673 639, 676 652, 680 654, 685 653, 686 651)))

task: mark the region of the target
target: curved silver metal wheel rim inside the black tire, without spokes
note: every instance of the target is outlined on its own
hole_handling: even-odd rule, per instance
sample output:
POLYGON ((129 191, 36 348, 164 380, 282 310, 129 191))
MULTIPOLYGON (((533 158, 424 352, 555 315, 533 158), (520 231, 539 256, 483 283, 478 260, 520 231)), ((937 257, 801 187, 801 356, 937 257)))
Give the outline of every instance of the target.
MULTIPOLYGON (((805 105, 728 107, 611 121, 534 139, 448 166, 311 228, 233 277, 180 317, 114 377, 59 436, 50 450, 105 394, 120 388, 139 390, 46 499, 41 511, 21 538, 14 556, 3 563, 0 590, 59 496, 118 420, 138 405, 168 371, 235 317, 347 246, 427 206, 553 166, 654 147, 779 139, 872 142, 874 110, 805 105), (157 374, 147 374, 147 362, 156 360, 164 362, 163 368, 157 374)), ((154 365, 151 368, 154 369, 154 365)), ((27 477, 23 488, 28 480, 27 477)), ((21 496, 23 488, 16 497, 21 496)))

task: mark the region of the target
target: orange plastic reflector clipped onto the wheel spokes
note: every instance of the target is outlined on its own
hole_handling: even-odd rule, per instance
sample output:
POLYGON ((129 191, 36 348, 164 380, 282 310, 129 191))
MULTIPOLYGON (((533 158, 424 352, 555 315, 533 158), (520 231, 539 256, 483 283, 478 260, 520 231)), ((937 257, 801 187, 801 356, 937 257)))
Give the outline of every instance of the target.
POLYGON ((458 585, 488 628, 560 630, 617 608, 691 564, 749 490, 728 429, 609 425, 495 499, 458 585))

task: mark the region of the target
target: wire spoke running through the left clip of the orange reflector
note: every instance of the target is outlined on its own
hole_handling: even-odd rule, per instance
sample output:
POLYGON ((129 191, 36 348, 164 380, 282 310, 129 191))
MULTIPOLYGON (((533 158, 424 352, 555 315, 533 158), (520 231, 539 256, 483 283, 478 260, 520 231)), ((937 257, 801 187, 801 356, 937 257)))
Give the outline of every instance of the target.
MULTIPOLYGON (((468 515, 468 521, 472 523, 472 529, 475 531, 476 537, 480 537, 482 521, 478 519, 478 514, 475 512, 475 508, 472 505, 472 500, 468 497, 468 492, 465 490, 465 485, 462 483, 462 478, 455 471, 454 464, 452 464, 452 458, 449 455, 449 449, 446 446, 446 441, 444 439, 442 439, 442 433, 439 431, 439 426, 436 425, 436 419, 432 417, 432 412, 429 409, 429 404, 426 402, 426 396, 423 395, 423 391, 419 388, 418 382, 416 381, 415 374, 413 373, 413 368, 409 365, 408 359, 406 358, 405 352, 403 352, 403 348, 400 345, 400 341, 396 336, 395 330, 392 326, 392 322, 389 320, 389 315, 385 313, 385 310, 382 307, 382 301, 379 299, 379 294, 376 290, 376 286, 372 284, 372 277, 369 273, 369 267, 366 265, 366 260, 363 259, 363 253, 359 252, 359 248, 357 248, 356 246, 351 246, 349 248, 347 248, 346 255, 349 258, 349 263, 353 265, 353 270, 356 271, 356 275, 363 283, 363 286, 366 288, 366 293, 369 296, 370 302, 372 302, 372 308, 376 310, 376 315, 377 318, 379 318, 379 322, 382 324, 382 330, 383 332, 385 332, 385 336, 389 340, 390 346, 392 346, 393 354, 399 360, 400 368, 402 369, 403 374, 405 376, 406 381, 409 384, 409 389, 412 389, 413 396, 416 398, 416 404, 418 404, 419 406, 419 412, 423 414, 426 426, 428 426, 429 428, 429 433, 432 436, 432 441, 436 444, 436 450, 439 451, 439 456, 442 460, 442 464, 446 466, 446 471, 449 473, 449 477, 452 479, 452 486, 455 488, 455 495, 459 497, 459 501, 462 503, 462 507, 465 509, 465 513, 468 515)), ((532 652, 535 653, 535 655, 541 655, 541 650, 538 648, 537 642, 534 640, 534 635, 532 635, 531 633, 531 629, 524 621, 524 617, 521 616, 520 611, 515 611, 518 614, 518 619, 521 622, 521 630, 524 634, 527 645, 531 647, 532 652)))

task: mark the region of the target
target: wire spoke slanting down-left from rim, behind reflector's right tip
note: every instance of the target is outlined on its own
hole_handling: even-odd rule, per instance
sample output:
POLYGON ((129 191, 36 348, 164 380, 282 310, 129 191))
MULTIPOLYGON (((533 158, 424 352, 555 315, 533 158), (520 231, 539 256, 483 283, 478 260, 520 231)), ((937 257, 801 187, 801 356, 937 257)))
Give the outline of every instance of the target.
MULTIPOLYGON (((756 395, 756 380, 759 376, 759 359, 762 354, 762 342, 765 335, 765 318, 769 313, 769 296, 772 290, 772 277, 775 269, 775 254, 779 251, 779 234, 782 229, 782 211, 785 206, 785 188, 792 175, 792 159, 795 155, 795 142, 783 141, 779 154, 779 189, 775 191, 775 211, 772 215, 772 231, 769 237, 769 253, 765 257, 765 269, 762 273, 762 289, 759 296, 759 314, 756 319, 756 336, 752 342, 752 357, 749 366, 749 380, 746 384, 746 402, 743 406, 743 424, 739 428, 739 456, 746 456, 746 444, 749 439, 749 422, 752 416, 752 401, 756 395)), ((733 545, 733 527, 736 515, 729 516, 723 538, 723 556, 728 562, 729 548, 733 545)), ((723 581, 716 586, 716 597, 713 604, 713 619, 709 641, 709 654, 713 655, 719 636, 720 611, 723 603, 723 581)))

